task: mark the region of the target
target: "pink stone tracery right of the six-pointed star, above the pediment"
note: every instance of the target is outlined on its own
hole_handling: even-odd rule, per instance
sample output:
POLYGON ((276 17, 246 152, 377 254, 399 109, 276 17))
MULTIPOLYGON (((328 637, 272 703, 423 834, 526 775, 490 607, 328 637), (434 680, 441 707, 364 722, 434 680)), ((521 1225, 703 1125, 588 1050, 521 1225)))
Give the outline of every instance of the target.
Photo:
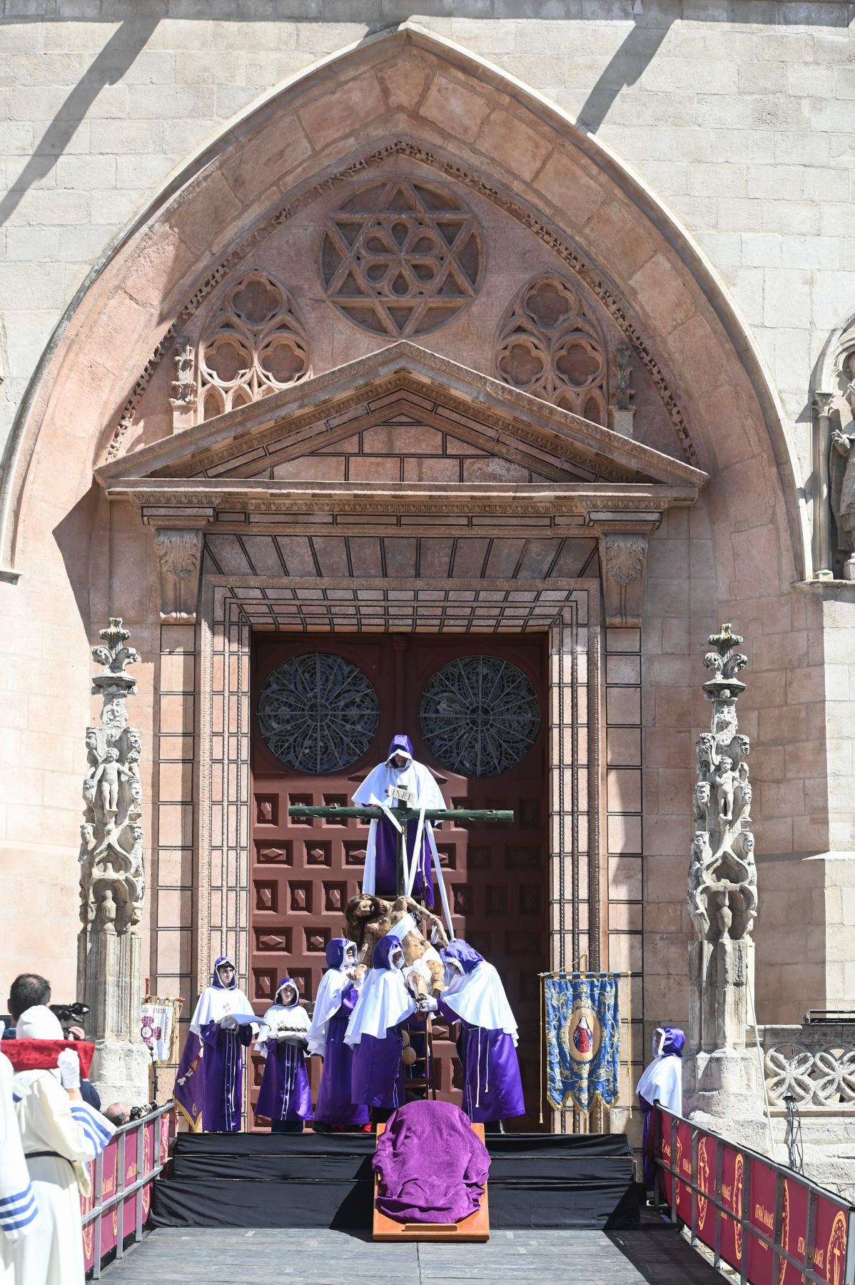
POLYGON ((496 374, 596 424, 606 424, 606 346, 578 292, 557 276, 529 281, 499 324, 496 374))

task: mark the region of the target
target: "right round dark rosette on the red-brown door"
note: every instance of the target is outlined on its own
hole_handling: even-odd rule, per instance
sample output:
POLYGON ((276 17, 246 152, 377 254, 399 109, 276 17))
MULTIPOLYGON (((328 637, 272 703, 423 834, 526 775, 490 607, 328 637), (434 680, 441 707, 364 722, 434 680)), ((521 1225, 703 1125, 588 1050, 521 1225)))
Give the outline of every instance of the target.
POLYGON ((428 681, 419 725, 443 767, 463 776, 493 776, 519 763, 534 744, 540 702, 515 664, 466 655, 428 681))

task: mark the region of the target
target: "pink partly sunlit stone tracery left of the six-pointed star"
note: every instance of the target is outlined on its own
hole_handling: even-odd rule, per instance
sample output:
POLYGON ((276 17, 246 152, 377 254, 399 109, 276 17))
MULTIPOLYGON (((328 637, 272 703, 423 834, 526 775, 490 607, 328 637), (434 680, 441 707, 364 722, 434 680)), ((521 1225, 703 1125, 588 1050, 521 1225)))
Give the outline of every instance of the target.
POLYGON ((306 325, 288 290, 248 272, 225 296, 199 343, 199 423, 311 374, 306 325))

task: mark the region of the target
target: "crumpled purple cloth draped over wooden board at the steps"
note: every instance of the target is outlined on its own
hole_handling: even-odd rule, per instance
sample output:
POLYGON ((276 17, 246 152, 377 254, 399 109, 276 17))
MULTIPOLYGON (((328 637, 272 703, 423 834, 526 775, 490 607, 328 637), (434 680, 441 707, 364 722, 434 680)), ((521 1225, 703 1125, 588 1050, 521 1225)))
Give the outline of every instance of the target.
POLYGON ((480 1208, 490 1158, 460 1106, 424 1101, 392 1113, 371 1164, 388 1218, 461 1222, 480 1208))

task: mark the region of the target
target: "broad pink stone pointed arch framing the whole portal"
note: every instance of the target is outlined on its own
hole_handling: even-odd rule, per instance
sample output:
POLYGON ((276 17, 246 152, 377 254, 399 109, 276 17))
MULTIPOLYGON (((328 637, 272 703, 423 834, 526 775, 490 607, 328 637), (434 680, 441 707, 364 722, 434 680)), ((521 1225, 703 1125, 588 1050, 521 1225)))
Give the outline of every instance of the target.
MULTIPOLYGON (((76 464, 55 499, 72 505, 85 493, 135 382, 145 388, 163 352, 173 355, 182 311, 238 265, 252 270, 261 242, 321 193, 344 198, 354 179, 384 164, 431 171, 467 190, 467 202, 489 200, 584 283, 650 377, 684 456, 712 474, 738 463, 748 488, 763 475, 768 502, 751 518, 778 549, 781 582, 791 580, 802 554, 781 414, 751 337, 702 253, 560 109, 410 23, 300 73, 232 122, 92 272, 15 423, 3 562, 24 565, 28 496, 37 500, 50 457, 69 443, 76 464)), ((461 294, 478 272, 452 275, 461 294)), ((496 299, 497 315, 507 302, 496 299)))

